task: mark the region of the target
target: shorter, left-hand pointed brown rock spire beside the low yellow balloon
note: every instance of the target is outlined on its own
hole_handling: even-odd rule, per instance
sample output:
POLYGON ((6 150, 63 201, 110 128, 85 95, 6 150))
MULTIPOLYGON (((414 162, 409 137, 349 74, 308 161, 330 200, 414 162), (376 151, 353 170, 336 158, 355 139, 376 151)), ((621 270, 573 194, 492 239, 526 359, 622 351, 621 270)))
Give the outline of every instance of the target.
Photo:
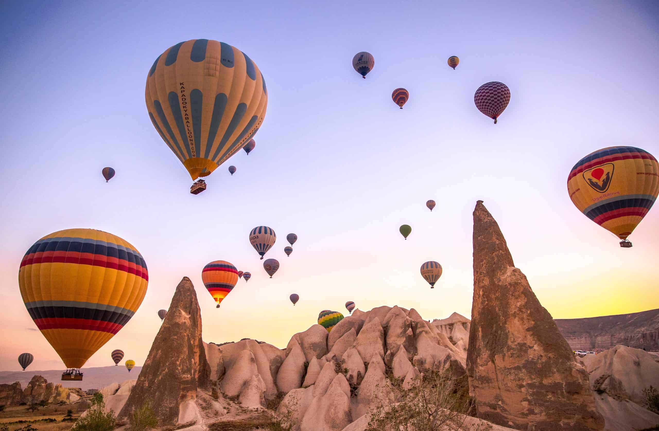
POLYGON ((129 417, 148 400, 161 426, 175 425, 179 406, 196 399, 197 388, 209 384, 197 295, 190 279, 183 277, 119 417, 129 417))

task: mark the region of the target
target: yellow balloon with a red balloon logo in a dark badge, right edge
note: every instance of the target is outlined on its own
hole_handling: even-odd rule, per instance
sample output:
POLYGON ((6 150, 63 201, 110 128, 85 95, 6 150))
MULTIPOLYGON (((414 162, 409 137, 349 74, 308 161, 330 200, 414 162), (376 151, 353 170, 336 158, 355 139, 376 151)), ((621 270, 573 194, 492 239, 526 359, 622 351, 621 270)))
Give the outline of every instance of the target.
POLYGON ((629 248, 637 224, 659 194, 659 164, 636 147, 608 147, 581 159, 567 176, 575 207, 629 248))

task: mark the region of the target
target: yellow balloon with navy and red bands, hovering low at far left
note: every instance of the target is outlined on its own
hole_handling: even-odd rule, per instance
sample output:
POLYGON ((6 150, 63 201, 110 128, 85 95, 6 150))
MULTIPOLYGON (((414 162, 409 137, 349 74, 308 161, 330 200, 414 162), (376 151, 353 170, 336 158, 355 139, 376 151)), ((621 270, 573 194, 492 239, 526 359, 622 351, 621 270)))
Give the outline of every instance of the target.
POLYGON ((67 229, 36 241, 18 270, 25 307, 64 361, 64 380, 130 320, 146 294, 142 255, 118 236, 67 229))

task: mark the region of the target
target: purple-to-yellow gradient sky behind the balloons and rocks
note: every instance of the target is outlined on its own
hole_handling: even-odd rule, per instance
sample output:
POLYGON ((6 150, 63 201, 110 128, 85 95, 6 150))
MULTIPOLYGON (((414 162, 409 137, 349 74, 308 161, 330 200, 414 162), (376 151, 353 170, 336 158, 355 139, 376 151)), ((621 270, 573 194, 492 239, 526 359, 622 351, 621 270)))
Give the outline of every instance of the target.
POLYGON ((32 370, 63 368, 22 303, 18 266, 32 243, 67 228, 120 236, 149 270, 140 309, 86 367, 112 365, 117 348, 142 365, 156 312, 183 276, 205 342, 285 347, 319 311, 347 315, 349 300, 469 317, 478 199, 554 318, 659 308, 659 210, 621 249, 565 185, 596 149, 659 156, 652 1, 25 1, 0 12, 1 370, 18 370, 24 351, 32 370), (148 118, 144 85, 158 55, 196 38, 249 55, 268 84, 268 111, 256 149, 191 195, 148 118), (351 65, 359 51, 375 58, 366 80, 351 65), (511 91, 496 125, 473 102, 489 81, 511 91), (399 87, 410 94, 403 110, 391 101, 399 87), (117 170, 109 183, 104 166, 117 170), (412 226, 407 240, 401 224, 412 226), (272 279, 248 240, 260 225, 277 233, 266 255, 281 262, 272 279), (299 240, 286 257, 290 232, 299 240), (220 309, 201 281, 214 260, 252 273, 220 309), (432 290, 419 273, 425 261, 444 268, 432 290))

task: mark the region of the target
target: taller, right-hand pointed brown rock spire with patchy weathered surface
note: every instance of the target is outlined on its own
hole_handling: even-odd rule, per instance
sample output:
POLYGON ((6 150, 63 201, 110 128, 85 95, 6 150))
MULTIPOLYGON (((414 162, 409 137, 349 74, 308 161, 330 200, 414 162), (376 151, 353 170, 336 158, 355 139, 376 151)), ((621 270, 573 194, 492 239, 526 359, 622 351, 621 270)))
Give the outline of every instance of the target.
POLYGON ((518 430, 602 430, 585 368, 515 268, 482 201, 473 246, 467 372, 478 417, 518 430))

